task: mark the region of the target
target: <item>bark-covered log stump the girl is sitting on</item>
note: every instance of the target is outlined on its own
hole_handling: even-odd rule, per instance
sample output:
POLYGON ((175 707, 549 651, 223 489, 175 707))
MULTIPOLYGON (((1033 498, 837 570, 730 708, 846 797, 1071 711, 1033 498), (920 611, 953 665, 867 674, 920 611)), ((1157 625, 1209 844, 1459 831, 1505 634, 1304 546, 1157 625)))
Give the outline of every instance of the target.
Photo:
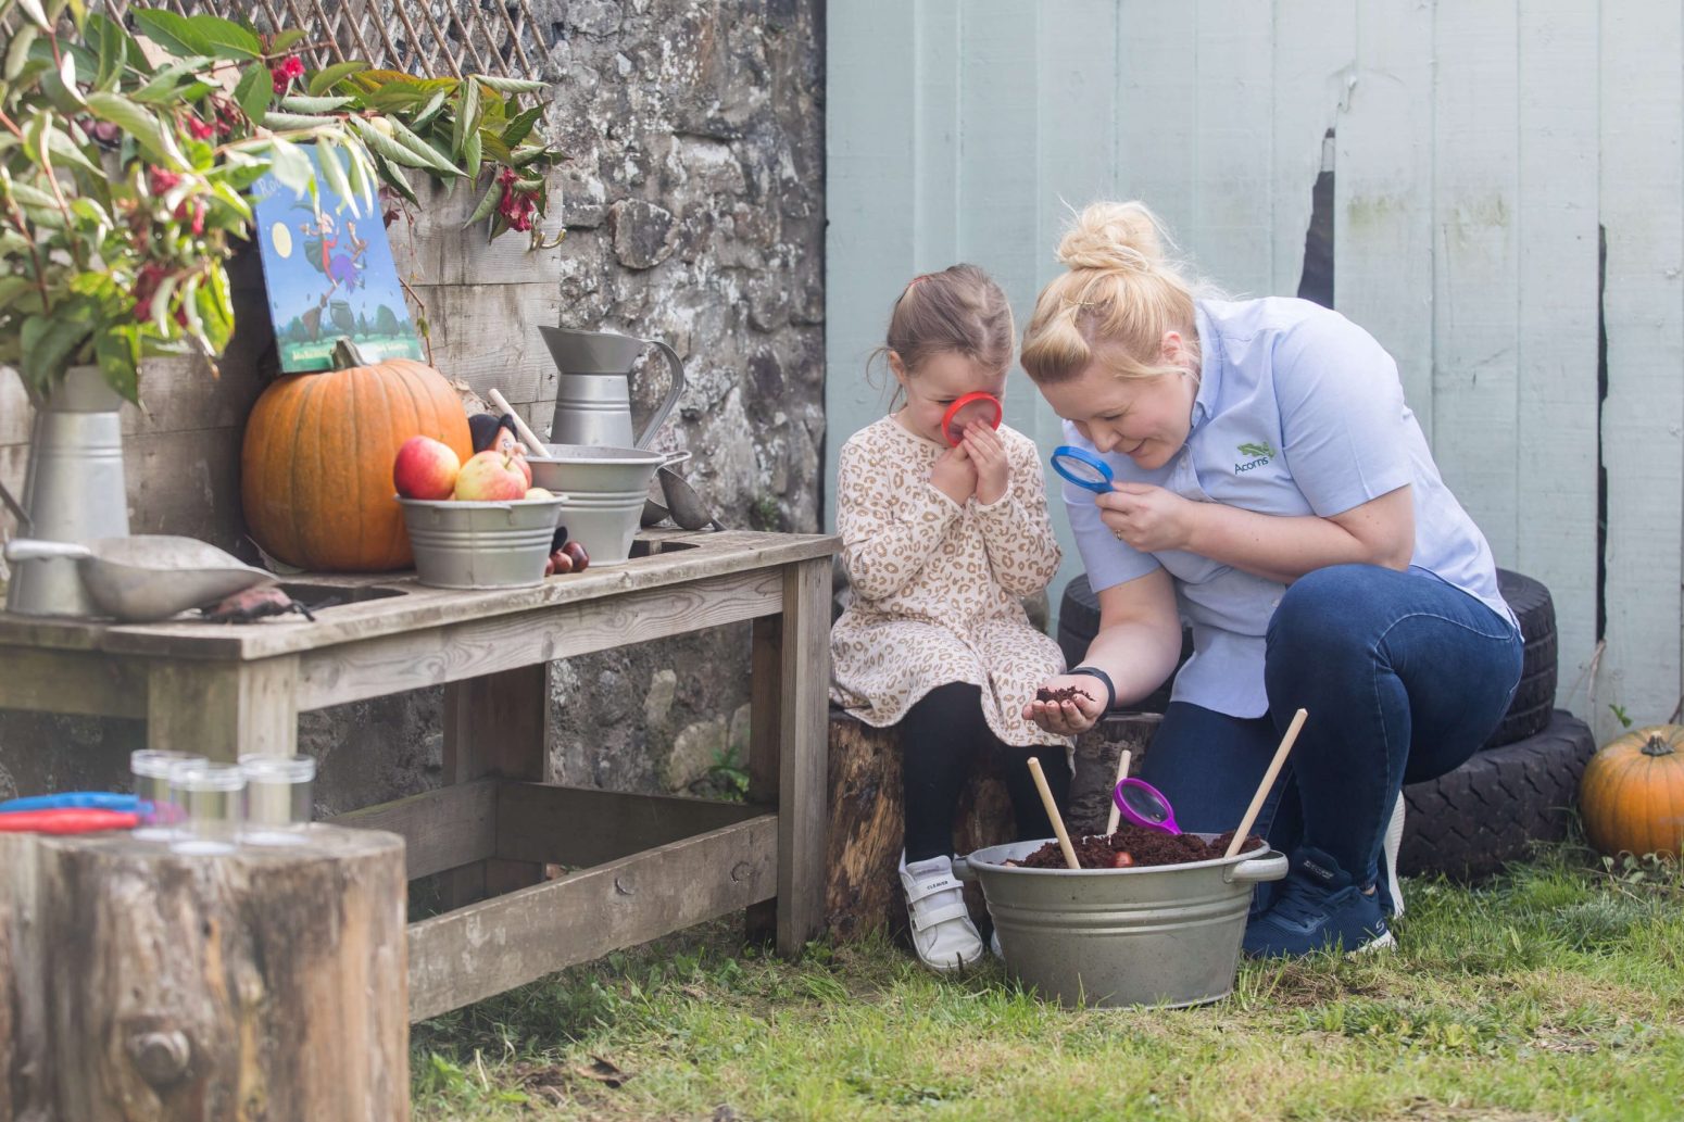
MULTIPOLYGON (((967 783, 953 829, 955 852, 1014 841, 1017 820, 1000 767, 983 756, 967 783)), ((896 871, 904 829, 896 729, 872 728, 832 709, 829 782, 825 927, 840 940, 877 928, 899 937, 906 930, 906 893, 896 871)), ((978 923, 989 915, 977 884, 965 886, 965 903, 978 923)))

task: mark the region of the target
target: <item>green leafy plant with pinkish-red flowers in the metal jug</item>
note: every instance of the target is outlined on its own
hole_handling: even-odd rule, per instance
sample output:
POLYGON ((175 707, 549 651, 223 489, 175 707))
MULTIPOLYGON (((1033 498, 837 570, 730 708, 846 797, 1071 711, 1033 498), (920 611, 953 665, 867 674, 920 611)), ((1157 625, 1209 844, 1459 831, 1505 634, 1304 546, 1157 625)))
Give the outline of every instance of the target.
POLYGON ((0 362, 37 398, 98 362, 138 401, 140 361, 202 354, 234 329, 224 263, 264 174, 359 211, 419 202, 406 168, 487 180, 470 224, 529 232, 557 153, 536 81, 416 77, 345 61, 310 72, 303 32, 135 8, 138 34, 81 0, 0 0, 0 362), (13 10, 15 8, 15 10, 13 10))

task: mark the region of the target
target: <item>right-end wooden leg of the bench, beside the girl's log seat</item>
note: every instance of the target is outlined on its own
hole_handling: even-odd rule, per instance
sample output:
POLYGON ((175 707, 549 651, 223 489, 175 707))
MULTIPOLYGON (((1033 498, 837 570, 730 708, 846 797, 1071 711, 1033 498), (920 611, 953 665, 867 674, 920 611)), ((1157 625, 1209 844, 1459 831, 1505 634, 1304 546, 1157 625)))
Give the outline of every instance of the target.
POLYGON ((830 559, 783 571, 783 613, 754 622, 749 802, 778 807, 778 900, 749 908, 749 938, 795 955, 823 925, 830 559))

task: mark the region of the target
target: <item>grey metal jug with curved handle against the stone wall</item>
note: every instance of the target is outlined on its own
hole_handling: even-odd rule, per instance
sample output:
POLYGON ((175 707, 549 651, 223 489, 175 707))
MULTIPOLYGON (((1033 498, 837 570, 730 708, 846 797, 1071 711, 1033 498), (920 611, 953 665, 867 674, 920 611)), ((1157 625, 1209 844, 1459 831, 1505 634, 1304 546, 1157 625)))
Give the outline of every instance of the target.
POLYGON ((684 362, 672 347, 658 339, 633 339, 615 332, 576 332, 566 327, 537 330, 561 371, 556 416, 549 428, 551 443, 647 448, 684 393, 684 362), (658 347, 667 357, 672 389, 633 440, 630 374, 632 364, 647 347, 658 347))

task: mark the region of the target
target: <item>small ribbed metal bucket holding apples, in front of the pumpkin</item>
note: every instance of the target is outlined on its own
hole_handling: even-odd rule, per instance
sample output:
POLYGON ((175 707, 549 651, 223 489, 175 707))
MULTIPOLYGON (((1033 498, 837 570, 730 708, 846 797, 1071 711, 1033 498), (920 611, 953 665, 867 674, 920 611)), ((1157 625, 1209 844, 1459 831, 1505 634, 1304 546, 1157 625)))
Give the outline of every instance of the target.
POLYGON ((416 556, 416 578, 433 588, 525 588, 544 580, 561 519, 559 499, 456 502, 397 499, 416 556))

